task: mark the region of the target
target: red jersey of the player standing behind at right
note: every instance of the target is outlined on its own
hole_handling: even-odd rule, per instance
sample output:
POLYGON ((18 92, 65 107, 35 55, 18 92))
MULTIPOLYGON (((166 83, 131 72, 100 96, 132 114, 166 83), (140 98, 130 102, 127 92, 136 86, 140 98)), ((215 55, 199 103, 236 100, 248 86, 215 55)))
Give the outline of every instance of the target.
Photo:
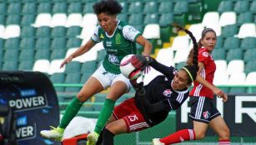
MULTIPOLYGON (((206 48, 200 48, 198 50, 198 62, 202 62, 204 67, 200 72, 203 79, 207 80, 208 83, 213 85, 214 72, 216 70, 216 65, 214 63, 213 57, 208 53, 206 48)), ((198 83, 198 81, 193 82, 193 89, 190 91, 190 96, 204 96, 209 99, 213 99, 213 91, 207 87, 198 83)))

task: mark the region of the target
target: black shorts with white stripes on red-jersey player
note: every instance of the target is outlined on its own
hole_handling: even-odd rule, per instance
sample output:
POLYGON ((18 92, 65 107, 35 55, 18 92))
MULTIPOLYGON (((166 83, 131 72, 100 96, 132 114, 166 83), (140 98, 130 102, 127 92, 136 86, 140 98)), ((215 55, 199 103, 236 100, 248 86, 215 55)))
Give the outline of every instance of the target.
POLYGON ((192 96, 190 97, 189 104, 191 104, 189 117, 195 121, 209 123, 213 118, 221 115, 213 105, 213 99, 192 96))

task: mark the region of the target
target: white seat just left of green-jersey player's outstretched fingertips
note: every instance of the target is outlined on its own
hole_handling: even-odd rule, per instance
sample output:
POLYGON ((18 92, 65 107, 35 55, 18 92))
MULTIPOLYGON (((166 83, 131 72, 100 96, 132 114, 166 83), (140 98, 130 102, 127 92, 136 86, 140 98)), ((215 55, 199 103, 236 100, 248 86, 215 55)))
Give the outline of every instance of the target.
POLYGON ((65 70, 65 65, 63 66, 63 68, 59 68, 60 65, 62 64, 63 59, 62 60, 52 60, 50 65, 49 65, 49 69, 48 69, 48 74, 49 75, 53 75, 54 73, 63 73, 65 70))

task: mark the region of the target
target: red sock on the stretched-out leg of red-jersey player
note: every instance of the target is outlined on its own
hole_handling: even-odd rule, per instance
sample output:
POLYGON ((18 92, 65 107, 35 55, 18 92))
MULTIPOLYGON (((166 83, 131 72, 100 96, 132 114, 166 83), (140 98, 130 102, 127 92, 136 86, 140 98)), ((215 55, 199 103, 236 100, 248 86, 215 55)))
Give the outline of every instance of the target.
POLYGON ((161 138, 160 142, 165 144, 181 143, 183 141, 192 141, 195 139, 193 129, 183 129, 176 133, 170 134, 165 138, 161 138))

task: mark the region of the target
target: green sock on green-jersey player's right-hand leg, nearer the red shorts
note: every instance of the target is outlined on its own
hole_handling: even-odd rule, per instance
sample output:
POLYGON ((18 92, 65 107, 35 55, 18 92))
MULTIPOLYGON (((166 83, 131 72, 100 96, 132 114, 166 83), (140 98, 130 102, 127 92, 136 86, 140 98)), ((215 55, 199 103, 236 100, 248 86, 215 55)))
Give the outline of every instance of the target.
POLYGON ((113 113, 114 104, 115 104, 115 101, 113 101, 112 99, 105 99, 103 109, 100 111, 100 114, 98 116, 98 120, 94 128, 94 132, 96 133, 102 132, 104 126, 108 121, 108 118, 113 113))

